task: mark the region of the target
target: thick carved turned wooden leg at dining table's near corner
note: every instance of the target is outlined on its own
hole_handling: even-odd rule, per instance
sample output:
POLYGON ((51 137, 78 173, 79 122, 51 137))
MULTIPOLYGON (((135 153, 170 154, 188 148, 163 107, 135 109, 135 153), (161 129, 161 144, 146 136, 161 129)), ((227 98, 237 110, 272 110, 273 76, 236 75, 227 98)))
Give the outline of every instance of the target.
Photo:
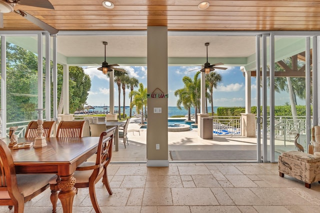
POLYGON ((75 178, 72 175, 60 176, 60 178, 58 198, 61 201, 63 213, 72 213, 73 198, 76 194, 76 189, 74 188, 75 178))

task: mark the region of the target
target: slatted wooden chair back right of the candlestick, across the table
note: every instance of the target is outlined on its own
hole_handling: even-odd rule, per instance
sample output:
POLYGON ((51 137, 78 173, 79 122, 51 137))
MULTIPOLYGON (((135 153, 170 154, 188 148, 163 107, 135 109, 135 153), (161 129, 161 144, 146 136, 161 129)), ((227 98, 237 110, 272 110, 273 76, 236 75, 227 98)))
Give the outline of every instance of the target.
POLYGON ((83 137, 84 121, 60 121, 56 130, 57 138, 83 137))

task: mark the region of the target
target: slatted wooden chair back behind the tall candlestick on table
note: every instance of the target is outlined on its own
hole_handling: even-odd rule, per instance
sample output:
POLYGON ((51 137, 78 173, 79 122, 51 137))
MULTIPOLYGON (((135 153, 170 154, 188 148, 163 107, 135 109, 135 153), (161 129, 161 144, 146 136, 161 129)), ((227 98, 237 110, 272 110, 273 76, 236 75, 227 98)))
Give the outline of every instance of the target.
MULTIPOLYGON (((53 131, 53 126, 55 125, 55 121, 43 121, 42 128, 43 134, 42 136, 45 138, 49 138, 53 131)), ((30 121, 28 126, 26 127, 24 137, 25 138, 36 138, 38 124, 36 121, 30 121)))

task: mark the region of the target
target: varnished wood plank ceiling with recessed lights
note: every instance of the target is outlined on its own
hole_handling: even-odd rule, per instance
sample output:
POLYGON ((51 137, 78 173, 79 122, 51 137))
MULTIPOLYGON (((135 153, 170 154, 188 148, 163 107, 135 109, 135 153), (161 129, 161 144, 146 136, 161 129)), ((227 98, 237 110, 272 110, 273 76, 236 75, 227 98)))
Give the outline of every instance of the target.
MULTIPOLYGON (((320 30, 320 0, 112 0, 113 9, 102 0, 50 0, 54 10, 16 5, 52 27, 61 30, 320 30)), ((39 30, 15 12, 3 14, 0 30, 39 30)))

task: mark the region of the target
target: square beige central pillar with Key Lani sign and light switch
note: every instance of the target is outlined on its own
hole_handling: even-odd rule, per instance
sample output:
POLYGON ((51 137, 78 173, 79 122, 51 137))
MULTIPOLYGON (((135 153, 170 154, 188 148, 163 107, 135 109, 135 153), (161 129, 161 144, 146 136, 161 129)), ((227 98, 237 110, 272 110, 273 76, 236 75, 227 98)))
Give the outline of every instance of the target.
MULTIPOLYGON (((147 93, 167 93, 167 27, 147 27, 147 93), (158 88, 158 89, 157 89, 158 88), (160 91, 161 90, 161 91, 160 91)), ((147 98, 146 132, 147 166, 169 166, 168 162, 168 100, 147 98), (161 113, 154 113, 161 108, 161 113), (156 149, 158 145, 159 149, 156 149)))

